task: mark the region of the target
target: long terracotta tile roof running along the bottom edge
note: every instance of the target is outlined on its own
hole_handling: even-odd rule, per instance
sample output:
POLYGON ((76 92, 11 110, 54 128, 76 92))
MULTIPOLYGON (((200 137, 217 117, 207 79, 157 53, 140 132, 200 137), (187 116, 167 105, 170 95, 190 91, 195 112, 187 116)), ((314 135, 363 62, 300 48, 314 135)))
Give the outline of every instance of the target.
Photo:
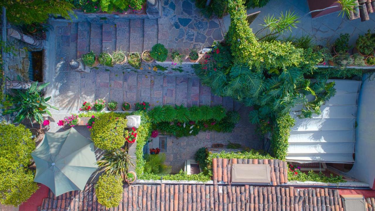
MULTIPOLYGON (((375 207, 374 198, 368 199, 375 207)), ((55 197, 50 191, 42 211, 343 211, 338 190, 253 187, 249 185, 124 185, 118 207, 98 203, 93 184, 84 191, 55 197)), ((369 209, 368 211, 371 211, 369 209)))

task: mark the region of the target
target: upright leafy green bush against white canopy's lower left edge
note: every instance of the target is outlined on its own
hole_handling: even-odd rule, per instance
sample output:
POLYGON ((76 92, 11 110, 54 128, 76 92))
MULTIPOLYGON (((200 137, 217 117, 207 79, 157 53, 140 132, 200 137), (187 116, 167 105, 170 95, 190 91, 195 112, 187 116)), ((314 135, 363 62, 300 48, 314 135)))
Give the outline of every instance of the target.
POLYGON ((294 126, 294 119, 288 114, 278 116, 276 125, 272 130, 271 151, 275 158, 285 160, 288 152, 288 138, 291 127, 294 126))

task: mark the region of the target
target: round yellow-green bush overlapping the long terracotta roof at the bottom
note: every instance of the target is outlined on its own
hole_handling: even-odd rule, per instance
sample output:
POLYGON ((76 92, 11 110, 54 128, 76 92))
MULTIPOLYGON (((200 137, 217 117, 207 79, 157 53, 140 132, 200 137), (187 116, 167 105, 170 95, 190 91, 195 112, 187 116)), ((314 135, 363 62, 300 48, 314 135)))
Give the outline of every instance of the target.
POLYGON ((102 174, 95 185, 96 197, 101 205, 117 207, 123 194, 122 179, 120 176, 102 174))

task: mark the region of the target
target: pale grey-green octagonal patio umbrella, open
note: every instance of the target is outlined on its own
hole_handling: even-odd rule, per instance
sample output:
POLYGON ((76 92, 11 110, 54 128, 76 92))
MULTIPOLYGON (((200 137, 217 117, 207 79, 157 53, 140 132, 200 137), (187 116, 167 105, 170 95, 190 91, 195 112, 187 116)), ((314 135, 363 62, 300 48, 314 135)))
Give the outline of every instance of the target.
POLYGON ((74 128, 61 133, 45 133, 31 156, 36 164, 34 181, 49 187, 55 196, 83 190, 98 167, 93 142, 74 128))

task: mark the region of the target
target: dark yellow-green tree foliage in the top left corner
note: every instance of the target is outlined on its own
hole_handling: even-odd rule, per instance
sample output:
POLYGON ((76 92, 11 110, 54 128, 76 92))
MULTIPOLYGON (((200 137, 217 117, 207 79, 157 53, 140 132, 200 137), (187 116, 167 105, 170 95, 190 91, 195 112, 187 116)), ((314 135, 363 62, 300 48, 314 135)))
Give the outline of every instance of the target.
POLYGON ((4 0, 0 6, 6 8, 7 20, 16 25, 43 23, 51 14, 70 20, 69 14, 73 13, 73 5, 66 0, 4 0))

